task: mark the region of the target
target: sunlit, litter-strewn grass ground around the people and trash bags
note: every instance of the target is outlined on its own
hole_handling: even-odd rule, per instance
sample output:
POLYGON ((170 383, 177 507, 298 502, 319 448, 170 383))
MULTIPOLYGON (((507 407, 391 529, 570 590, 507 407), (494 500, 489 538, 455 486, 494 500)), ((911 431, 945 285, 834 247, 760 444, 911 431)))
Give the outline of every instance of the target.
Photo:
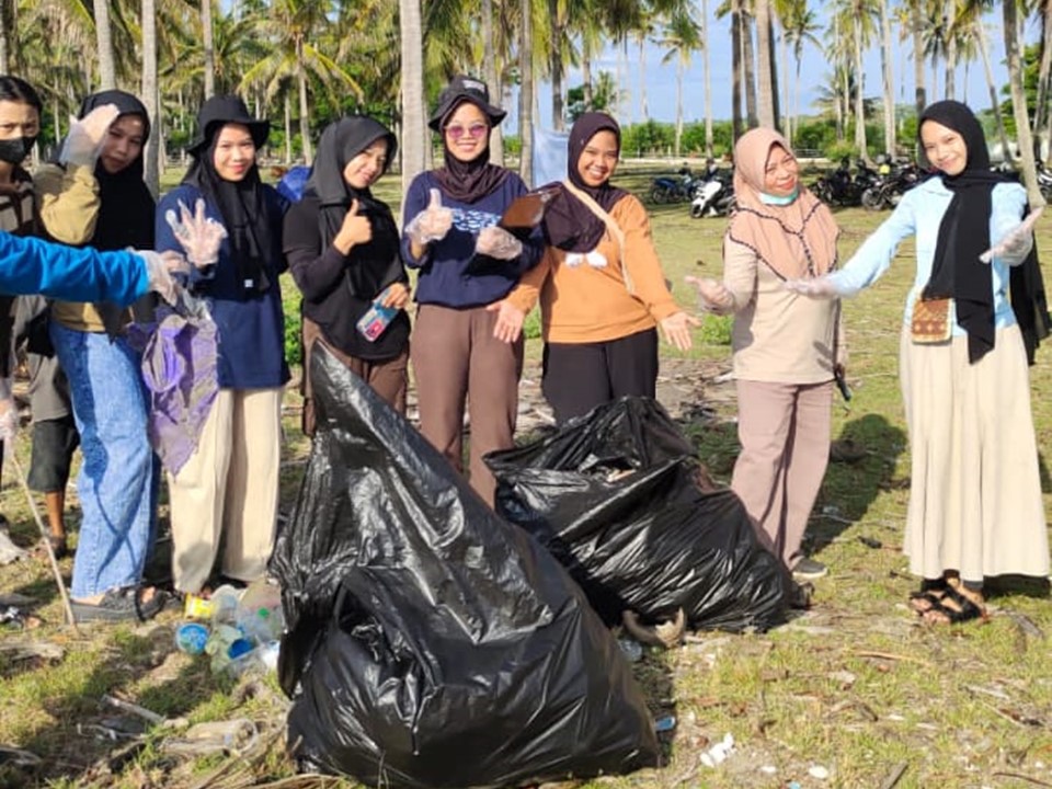
MULTIPOLYGON (((629 171, 622 181, 642 194, 654 174, 629 171)), ((385 186, 381 195, 397 203, 391 188, 385 186)), ((844 259, 883 216, 837 215, 844 259)), ((724 220, 691 219, 683 205, 653 207, 652 219, 673 283, 688 273, 719 273, 724 220)), ((1052 219, 1042 218, 1038 237, 1042 249, 1052 250, 1052 219)), ((905 607, 915 581, 899 550, 910 459, 895 359, 912 251, 904 244, 888 276, 845 304, 855 398, 849 409, 835 407, 834 435, 853 439, 865 454, 855 464, 831 465, 812 517, 811 548, 831 568, 816 582, 814 607, 773 632, 697 633, 678 650, 645 653, 634 666, 654 712, 678 721, 667 736, 666 763, 583 786, 1052 786, 1048 584, 1000 584, 993 590, 987 625, 926 628, 905 607), (700 755, 728 733, 735 750, 720 766, 705 766, 700 755)), ((687 291, 675 289, 688 305, 687 291)), ((686 420, 684 428, 712 474, 725 482, 736 454, 733 401, 729 385, 711 370, 727 368, 729 348, 720 327, 700 330, 696 339, 689 354, 667 347, 663 354, 678 370, 697 370, 694 397, 712 404, 716 415, 686 420)), ((1045 348, 1032 368, 1033 415, 1045 451, 1052 447, 1052 401, 1042 397, 1052 387, 1049 353, 1045 348)), ((308 451, 296 401, 290 393, 285 508, 308 451)), ((23 467, 27 449, 22 436, 23 467)), ((3 512, 15 540, 28 545, 35 526, 24 495, 10 473, 4 483, 3 512)), ((1048 499, 1047 473, 1043 484, 1048 499)), ((69 560, 62 562, 67 578, 70 568, 69 560)), ((175 614, 138 628, 73 633, 61 627, 55 584, 41 559, 0 568, 0 591, 37 601, 44 620, 32 632, 3 631, 0 645, 30 638, 65 652, 50 660, 0 652, 0 743, 43 759, 33 768, 0 763, 0 786, 276 786, 291 775, 282 742, 272 734, 279 734, 284 709, 273 679, 216 677, 206 660, 173 652, 175 614), (190 722, 250 718, 260 725, 262 744, 248 761, 187 759, 165 750, 181 736, 178 729, 152 727, 140 740, 113 741, 105 732, 117 728, 113 719, 119 713, 103 704, 104 695, 190 722)))

